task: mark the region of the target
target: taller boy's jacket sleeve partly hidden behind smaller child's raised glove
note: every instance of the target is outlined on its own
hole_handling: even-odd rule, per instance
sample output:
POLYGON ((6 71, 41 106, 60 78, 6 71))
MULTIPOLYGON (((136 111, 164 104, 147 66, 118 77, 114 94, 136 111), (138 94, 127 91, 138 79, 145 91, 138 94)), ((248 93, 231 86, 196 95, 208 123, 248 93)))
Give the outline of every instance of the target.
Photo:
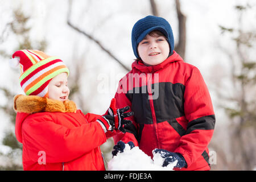
MULTIPOLYGON (((125 78, 125 77, 124 77, 125 78)), ((128 88, 123 88, 123 82, 125 81, 127 83, 127 80, 122 78, 121 81, 119 81, 117 92, 115 93, 115 99, 117 100, 117 108, 122 108, 125 106, 130 106, 131 111, 131 101, 126 96, 128 88)), ((125 84, 129 85, 129 84, 125 84)), ((137 136, 137 122, 135 122, 134 116, 131 116, 129 118, 126 118, 127 120, 130 120, 132 124, 130 126, 125 126, 126 133, 119 132, 117 135, 113 136, 114 143, 117 144, 119 140, 122 140, 123 142, 133 142, 135 146, 138 146, 138 140, 136 139, 137 136)))

